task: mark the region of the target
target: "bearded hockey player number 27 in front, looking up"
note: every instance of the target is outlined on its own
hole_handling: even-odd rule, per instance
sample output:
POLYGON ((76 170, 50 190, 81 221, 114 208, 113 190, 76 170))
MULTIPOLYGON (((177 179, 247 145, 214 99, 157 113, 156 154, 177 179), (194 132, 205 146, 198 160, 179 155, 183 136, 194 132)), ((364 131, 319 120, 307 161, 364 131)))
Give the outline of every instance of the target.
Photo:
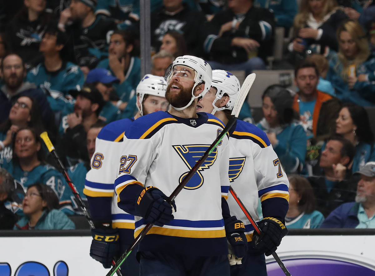
POLYGON ((134 236, 147 223, 154 224, 139 243, 141 276, 229 275, 226 236, 239 254, 246 253, 245 227, 229 215, 226 203, 227 136, 173 207, 165 201, 224 128, 216 117, 196 113, 198 98, 210 89, 211 76, 204 60, 176 58, 166 72, 166 99, 172 107, 139 118, 125 132, 115 180, 117 205, 135 215, 134 236))

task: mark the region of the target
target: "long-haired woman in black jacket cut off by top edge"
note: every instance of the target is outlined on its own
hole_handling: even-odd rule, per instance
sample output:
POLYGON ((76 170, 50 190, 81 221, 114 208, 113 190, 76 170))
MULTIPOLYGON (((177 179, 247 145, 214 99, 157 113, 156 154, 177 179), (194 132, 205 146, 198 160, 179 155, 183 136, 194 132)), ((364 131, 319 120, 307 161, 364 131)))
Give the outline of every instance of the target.
POLYGON ((329 49, 336 51, 336 30, 346 18, 335 0, 302 0, 300 11, 294 18, 293 41, 288 50, 300 59, 306 51, 320 54, 326 54, 329 49))

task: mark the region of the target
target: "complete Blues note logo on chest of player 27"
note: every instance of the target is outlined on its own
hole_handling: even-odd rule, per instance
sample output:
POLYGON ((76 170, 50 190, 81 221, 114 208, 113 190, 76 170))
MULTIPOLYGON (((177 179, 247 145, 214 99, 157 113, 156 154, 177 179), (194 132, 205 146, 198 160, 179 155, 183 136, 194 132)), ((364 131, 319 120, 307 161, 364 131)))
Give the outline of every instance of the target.
MULTIPOLYGON (((196 162, 203 156, 205 151, 210 145, 174 145, 174 150, 181 157, 187 168, 192 169, 196 162)), ((204 161, 203 165, 199 167, 198 171, 193 175, 189 182, 185 185, 185 189, 194 190, 198 189, 203 184, 202 171, 210 168, 217 158, 217 147, 211 152, 211 154, 204 161)), ((184 172, 178 179, 179 183, 186 177, 189 172, 184 172)))

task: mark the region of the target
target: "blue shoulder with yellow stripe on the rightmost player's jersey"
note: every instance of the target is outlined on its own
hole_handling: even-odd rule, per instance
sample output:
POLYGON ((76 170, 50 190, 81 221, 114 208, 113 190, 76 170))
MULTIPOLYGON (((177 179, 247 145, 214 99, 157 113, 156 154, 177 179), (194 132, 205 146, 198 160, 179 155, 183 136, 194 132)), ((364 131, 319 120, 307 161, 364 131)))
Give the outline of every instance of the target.
POLYGON ((261 148, 266 148, 271 145, 270 140, 263 130, 251 123, 241 120, 237 120, 236 129, 231 134, 231 137, 235 139, 249 139, 258 144, 261 148))

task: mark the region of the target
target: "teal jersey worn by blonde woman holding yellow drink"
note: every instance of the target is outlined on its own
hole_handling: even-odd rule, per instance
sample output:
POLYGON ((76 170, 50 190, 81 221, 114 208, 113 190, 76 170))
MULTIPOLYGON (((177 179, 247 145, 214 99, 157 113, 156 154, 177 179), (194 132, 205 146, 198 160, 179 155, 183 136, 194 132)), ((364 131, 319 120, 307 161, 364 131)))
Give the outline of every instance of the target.
MULTIPOLYGON (((354 102, 361 106, 375 103, 375 85, 372 82, 356 82, 353 89, 349 89, 348 82, 342 79, 343 64, 336 53, 332 54, 326 79, 336 89, 336 97, 344 102, 354 102)), ((373 74, 375 71, 375 57, 370 55, 367 61, 356 68, 356 76, 373 74)))

